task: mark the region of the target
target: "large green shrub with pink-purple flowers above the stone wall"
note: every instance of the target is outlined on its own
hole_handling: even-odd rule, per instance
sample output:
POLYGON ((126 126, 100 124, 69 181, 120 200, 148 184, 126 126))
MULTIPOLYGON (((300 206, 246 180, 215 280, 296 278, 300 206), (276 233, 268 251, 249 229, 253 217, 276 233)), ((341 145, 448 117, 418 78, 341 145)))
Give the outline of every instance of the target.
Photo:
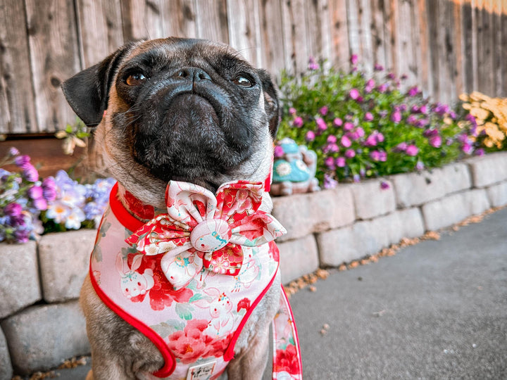
MULTIPOLYGON (((418 87, 399 89, 404 78, 375 65, 375 75, 330 69, 311 59, 301 78, 282 74, 285 116, 280 137, 306 142, 318 153, 317 177, 336 179, 392 175, 437 167, 474 146, 449 106, 430 104, 418 87)), ((481 153, 480 151, 478 153, 481 153)))

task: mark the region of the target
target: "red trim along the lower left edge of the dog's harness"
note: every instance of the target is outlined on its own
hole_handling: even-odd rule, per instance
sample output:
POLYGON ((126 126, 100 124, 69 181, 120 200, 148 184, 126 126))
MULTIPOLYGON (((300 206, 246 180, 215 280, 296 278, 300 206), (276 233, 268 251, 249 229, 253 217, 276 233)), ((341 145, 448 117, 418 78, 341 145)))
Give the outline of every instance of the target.
POLYGON ((139 321, 139 319, 132 317, 132 315, 128 314, 127 312, 123 311, 122 308, 120 308, 118 305, 116 305, 111 298, 106 296, 106 293, 102 291, 99 284, 96 283, 96 279, 92 272, 92 260, 90 260, 90 267, 89 267, 89 277, 90 281, 92 281, 92 286, 95 289, 95 292, 97 293, 97 296, 104 302, 104 304, 113 310, 120 318, 125 320, 128 324, 135 327, 139 331, 141 331, 146 338, 149 338, 151 342, 154 343, 156 348, 160 351, 162 354, 165 362, 161 369, 158 369, 157 372, 154 372, 154 376, 157 377, 167 377, 170 374, 172 374, 176 367, 176 360, 173 355, 173 353, 167 348, 167 345, 165 344, 163 338, 159 336, 151 327, 147 326, 143 322, 139 321))

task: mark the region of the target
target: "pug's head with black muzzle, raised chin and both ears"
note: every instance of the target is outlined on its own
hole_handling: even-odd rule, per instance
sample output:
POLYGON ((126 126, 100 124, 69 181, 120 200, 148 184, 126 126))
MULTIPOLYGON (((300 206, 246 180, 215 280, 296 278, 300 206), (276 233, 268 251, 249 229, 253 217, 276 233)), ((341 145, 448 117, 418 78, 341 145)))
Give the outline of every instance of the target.
POLYGON ((273 82, 230 46, 199 39, 126 44, 63 82, 75 113, 96 125, 112 175, 163 204, 170 179, 210 190, 263 181, 280 108, 273 82))

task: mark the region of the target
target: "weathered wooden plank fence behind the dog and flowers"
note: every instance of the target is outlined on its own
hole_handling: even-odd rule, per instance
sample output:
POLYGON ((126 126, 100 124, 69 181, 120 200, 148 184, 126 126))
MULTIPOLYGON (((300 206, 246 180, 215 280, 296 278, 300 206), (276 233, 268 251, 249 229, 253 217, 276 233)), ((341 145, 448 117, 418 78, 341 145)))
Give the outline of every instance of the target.
POLYGON ((252 63, 347 68, 352 53, 406 74, 434 100, 507 94, 507 0, 0 0, 0 133, 54 132, 60 84, 125 41, 226 42, 252 63))

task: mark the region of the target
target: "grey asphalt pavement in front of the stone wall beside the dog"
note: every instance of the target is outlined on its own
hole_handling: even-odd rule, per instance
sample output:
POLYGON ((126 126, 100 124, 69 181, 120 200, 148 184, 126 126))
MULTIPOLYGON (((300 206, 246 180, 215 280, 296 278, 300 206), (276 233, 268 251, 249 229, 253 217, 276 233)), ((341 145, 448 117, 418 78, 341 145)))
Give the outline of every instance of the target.
POLYGON ((507 209, 315 287, 290 300, 303 379, 507 379, 507 209))

